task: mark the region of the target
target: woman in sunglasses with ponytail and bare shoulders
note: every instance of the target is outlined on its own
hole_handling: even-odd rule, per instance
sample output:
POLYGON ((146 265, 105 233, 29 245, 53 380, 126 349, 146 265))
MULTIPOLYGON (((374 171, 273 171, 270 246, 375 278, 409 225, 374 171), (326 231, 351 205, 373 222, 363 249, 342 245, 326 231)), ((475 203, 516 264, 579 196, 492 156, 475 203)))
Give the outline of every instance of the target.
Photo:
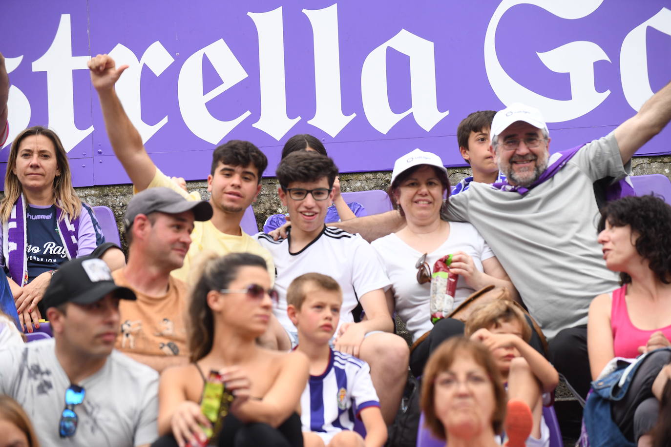
POLYGON ((205 428, 220 426, 217 446, 303 446, 297 414, 308 379, 307 357, 256 344, 266 332, 277 294, 266 262, 250 253, 205 257, 189 304, 189 365, 166 369, 158 391, 154 447, 205 445, 205 428), (232 395, 214 424, 201 412, 209 375, 232 395), (199 442, 199 444, 195 444, 199 442))

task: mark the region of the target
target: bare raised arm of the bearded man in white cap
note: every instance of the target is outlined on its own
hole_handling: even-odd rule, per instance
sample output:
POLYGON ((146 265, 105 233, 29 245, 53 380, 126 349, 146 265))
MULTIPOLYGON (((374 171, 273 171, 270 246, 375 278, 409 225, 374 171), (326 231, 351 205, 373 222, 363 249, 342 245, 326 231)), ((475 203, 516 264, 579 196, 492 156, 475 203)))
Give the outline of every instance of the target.
POLYGON ((615 139, 620 147, 622 163, 671 121, 671 82, 662 87, 643 103, 636 115, 615 129, 615 139))

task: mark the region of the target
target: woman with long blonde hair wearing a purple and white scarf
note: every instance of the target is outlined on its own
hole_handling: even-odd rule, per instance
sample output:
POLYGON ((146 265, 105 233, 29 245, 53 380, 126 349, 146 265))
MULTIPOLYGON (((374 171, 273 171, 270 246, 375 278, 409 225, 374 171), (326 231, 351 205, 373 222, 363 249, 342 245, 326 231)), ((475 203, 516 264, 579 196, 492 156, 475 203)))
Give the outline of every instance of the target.
POLYGON ((40 302, 58 265, 85 255, 100 257, 112 270, 125 264, 72 188, 67 153, 45 127, 25 129, 11 144, 0 219, 0 264, 29 332, 45 314, 40 302))

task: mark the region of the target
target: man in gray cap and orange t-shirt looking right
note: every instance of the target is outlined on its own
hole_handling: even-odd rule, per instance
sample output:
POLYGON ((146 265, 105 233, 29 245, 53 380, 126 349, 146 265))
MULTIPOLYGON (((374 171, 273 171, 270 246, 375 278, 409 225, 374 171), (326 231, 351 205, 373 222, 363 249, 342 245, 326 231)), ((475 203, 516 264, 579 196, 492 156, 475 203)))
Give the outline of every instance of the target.
POLYGON ((113 277, 138 299, 119 305, 116 347, 156 371, 187 362, 187 290, 170 272, 184 263, 193 222, 211 217, 209 202, 187 200, 169 188, 149 188, 128 202, 123 218, 128 262, 113 277))

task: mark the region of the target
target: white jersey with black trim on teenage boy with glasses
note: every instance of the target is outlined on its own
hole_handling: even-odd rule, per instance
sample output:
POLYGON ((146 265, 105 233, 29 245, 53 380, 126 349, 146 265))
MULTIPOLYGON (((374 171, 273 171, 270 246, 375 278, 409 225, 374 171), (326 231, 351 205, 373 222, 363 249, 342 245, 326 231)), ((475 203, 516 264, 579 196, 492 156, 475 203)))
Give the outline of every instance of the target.
POLYGON ((389 285, 389 278, 384 274, 375 251, 359 235, 324 227, 298 253, 289 253, 291 233, 287 239, 279 241, 273 241, 272 237, 263 233, 258 233, 256 238, 262 247, 270 251, 275 263, 275 288, 280 299, 273 312, 289 332, 296 332, 296 326, 287 316, 287 288, 295 277, 303 273, 322 273, 338 281, 342 288, 340 324, 354 321, 352 310, 361 296, 389 285))

